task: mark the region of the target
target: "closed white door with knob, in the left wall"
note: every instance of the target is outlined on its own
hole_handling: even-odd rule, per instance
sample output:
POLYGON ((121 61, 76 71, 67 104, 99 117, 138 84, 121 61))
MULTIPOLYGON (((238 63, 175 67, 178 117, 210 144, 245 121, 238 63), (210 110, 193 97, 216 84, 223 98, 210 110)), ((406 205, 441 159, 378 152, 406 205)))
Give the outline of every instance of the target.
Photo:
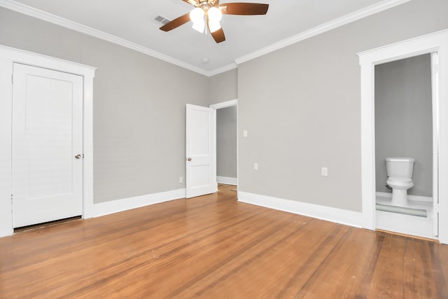
POLYGON ((83 78, 13 74, 13 227, 83 214, 83 78))

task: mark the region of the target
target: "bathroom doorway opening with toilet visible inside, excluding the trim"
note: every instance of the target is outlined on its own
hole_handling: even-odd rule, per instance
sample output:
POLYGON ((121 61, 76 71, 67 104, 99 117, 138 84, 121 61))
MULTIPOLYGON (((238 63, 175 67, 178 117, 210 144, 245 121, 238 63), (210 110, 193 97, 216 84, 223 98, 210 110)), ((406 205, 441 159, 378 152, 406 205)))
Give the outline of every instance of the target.
POLYGON ((437 102, 431 67, 435 60, 437 53, 426 53, 374 67, 377 229, 437 237, 437 102))

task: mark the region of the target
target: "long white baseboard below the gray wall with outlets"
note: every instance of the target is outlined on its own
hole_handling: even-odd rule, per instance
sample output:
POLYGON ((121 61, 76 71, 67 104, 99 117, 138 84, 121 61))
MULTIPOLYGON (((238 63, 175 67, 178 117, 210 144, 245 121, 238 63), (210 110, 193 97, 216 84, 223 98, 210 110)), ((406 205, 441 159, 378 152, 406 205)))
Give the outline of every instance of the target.
POLYGON ((356 228, 361 228, 363 223, 363 213, 356 211, 325 207, 306 202, 296 202, 294 200, 283 200, 282 198, 243 191, 238 191, 238 200, 248 204, 256 204, 261 207, 268 207, 280 211, 288 211, 290 213, 350 225, 356 228))

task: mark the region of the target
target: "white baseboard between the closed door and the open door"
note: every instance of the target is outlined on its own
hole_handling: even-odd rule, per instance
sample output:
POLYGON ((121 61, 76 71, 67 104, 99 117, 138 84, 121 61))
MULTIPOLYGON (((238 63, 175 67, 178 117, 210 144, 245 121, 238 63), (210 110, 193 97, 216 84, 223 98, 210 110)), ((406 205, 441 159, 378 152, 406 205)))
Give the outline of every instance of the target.
POLYGON ((145 207, 150 204, 158 204, 160 202, 167 202, 169 200, 177 200, 179 198, 184 198, 185 195, 186 195, 186 189, 183 188, 167 192, 130 197, 125 198, 123 200, 101 202, 99 204, 93 204, 92 216, 93 217, 104 216, 108 214, 117 213, 119 211, 126 211, 129 209, 145 207))

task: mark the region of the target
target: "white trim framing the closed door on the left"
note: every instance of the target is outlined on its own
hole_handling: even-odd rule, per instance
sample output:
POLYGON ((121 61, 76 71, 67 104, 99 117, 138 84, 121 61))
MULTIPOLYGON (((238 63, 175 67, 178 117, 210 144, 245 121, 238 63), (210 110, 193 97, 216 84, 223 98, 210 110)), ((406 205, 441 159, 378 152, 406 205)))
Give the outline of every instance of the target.
POLYGON ((93 216, 93 78, 96 68, 0 45, 0 237, 13 234, 11 114, 13 64, 83 76, 83 218, 93 216))

